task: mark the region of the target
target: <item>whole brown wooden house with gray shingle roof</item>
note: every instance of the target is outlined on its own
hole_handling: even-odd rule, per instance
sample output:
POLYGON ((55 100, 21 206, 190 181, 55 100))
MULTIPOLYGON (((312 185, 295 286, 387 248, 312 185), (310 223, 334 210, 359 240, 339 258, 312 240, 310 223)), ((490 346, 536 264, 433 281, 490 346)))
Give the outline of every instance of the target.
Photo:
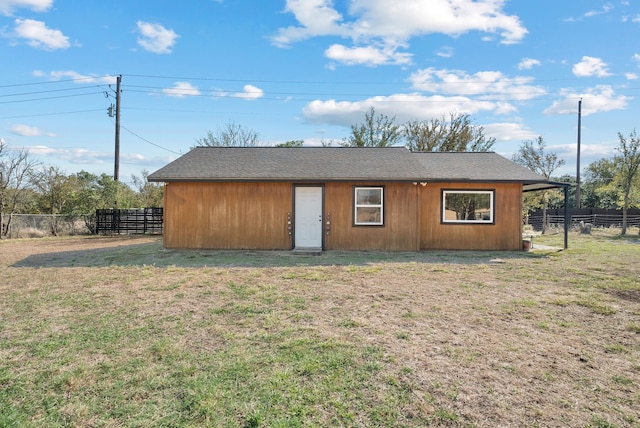
POLYGON ((496 153, 198 147, 165 183, 164 246, 520 250, 522 193, 547 180, 496 153))

